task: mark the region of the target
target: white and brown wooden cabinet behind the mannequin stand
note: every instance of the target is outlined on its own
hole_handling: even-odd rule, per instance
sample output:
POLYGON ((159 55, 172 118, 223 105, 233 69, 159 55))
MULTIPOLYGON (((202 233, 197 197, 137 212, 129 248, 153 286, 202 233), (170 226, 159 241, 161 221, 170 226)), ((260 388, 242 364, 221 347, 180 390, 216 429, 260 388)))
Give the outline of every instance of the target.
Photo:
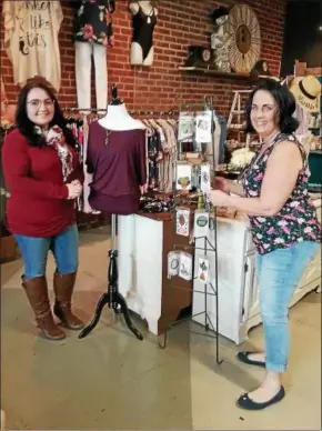
POLYGON ((189 239, 175 234, 172 214, 122 216, 118 219, 119 290, 128 308, 153 334, 163 333, 191 305, 192 281, 168 279, 168 253, 189 239))

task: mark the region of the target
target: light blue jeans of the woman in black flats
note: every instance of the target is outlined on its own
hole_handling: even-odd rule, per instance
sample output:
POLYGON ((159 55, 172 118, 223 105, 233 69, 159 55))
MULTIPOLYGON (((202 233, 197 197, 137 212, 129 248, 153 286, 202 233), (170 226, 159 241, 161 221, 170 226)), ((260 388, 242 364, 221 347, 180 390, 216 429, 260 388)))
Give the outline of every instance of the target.
POLYGON ((268 371, 284 372, 290 352, 289 305, 308 263, 320 244, 303 241, 256 255, 260 309, 268 371))

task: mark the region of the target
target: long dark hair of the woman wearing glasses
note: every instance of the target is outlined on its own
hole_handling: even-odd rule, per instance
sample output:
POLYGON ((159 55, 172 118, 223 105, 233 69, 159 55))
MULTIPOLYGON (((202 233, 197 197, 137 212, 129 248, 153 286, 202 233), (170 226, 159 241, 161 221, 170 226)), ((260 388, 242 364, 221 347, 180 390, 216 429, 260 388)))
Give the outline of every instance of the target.
POLYGON ((77 140, 67 126, 67 121, 62 114, 62 111, 59 107, 56 97, 56 91, 44 78, 33 78, 28 80, 26 86, 20 91, 16 110, 16 126, 19 129, 20 133, 22 133, 27 138, 28 143, 32 147, 40 148, 47 144, 46 138, 42 134, 38 134, 36 132, 36 124, 30 121, 27 116, 27 97, 30 90, 34 88, 41 88, 42 90, 44 90, 50 97, 50 99, 53 101, 54 113, 51 122, 49 123, 49 127, 59 126, 63 132, 66 142, 70 147, 77 148, 77 140))

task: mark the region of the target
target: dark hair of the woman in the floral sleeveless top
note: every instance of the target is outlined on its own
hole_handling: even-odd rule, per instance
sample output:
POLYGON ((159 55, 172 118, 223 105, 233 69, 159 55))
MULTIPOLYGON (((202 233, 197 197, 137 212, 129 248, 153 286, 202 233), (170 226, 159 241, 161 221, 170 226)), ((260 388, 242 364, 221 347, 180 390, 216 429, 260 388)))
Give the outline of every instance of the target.
POLYGON ((251 122, 251 110, 253 104, 254 94, 259 90, 265 90, 272 94, 278 103, 278 116, 279 126, 282 133, 293 133, 298 127, 299 121, 293 117, 296 104, 294 96, 288 89, 288 87, 281 86, 280 82, 274 79, 261 79, 258 86, 252 90, 246 101, 245 113, 246 113, 246 127, 245 133, 254 132, 254 128, 251 122))

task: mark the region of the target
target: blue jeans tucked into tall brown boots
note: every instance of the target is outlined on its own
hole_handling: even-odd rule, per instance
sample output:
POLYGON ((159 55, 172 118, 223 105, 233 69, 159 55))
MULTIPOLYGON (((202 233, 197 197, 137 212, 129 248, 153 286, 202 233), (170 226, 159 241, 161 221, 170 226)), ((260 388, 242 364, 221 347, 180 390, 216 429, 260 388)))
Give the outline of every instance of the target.
POLYGON ((57 271, 70 274, 78 269, 79 235, 76 224, 56 237, 34 238, 14 235, 24 263, 24 278, 33 279, 46 274, 49 250, 52 251, 57 271))

